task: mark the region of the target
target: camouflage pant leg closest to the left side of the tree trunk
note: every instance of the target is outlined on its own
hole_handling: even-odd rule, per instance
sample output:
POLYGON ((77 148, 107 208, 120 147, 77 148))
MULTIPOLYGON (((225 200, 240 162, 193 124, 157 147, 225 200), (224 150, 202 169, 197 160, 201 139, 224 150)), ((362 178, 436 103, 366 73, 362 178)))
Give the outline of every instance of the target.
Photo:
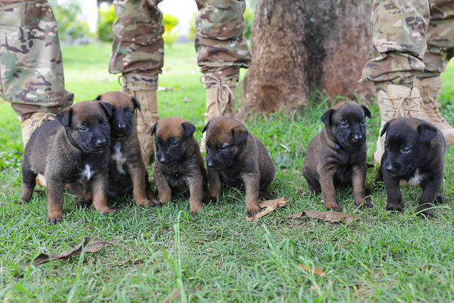
MULTIPOLYGON (((243 35, 244 0, 196 0, 194 45, 197 64, 204 74, 221 82, 238 77, 240 67, 250 66, 250 51, 243 35)), ((207 87, 206 87, 207 88, 207 87)))

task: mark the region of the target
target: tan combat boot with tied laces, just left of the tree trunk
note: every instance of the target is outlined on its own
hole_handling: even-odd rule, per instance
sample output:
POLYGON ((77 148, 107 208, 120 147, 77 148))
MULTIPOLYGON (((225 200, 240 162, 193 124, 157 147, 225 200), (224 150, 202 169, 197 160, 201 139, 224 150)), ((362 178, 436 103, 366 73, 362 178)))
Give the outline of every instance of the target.
MULTIPOLYGON (((234 77, 229 82, 220 82, 218 78, 208 74, 200 77, 200 82, 211 84, 211 87, 206 89, 205 125, 215 117, 235 115, 236 80, 237 78, 234 77)), ((206 152, 205 141, 206 133, 203 133, 200 143, 201 152, 206 152)))

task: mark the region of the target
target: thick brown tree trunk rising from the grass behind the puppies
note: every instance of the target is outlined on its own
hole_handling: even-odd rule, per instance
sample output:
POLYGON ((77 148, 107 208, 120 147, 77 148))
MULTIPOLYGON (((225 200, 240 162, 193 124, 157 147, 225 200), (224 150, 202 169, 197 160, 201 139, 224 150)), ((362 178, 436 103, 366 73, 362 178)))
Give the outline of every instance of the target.
POLYGON ((372 53, 371 9, 362 0, 258 1, 238 116, 302 109, 314 89, 372 99, 373 84, 358 83, 372 53))

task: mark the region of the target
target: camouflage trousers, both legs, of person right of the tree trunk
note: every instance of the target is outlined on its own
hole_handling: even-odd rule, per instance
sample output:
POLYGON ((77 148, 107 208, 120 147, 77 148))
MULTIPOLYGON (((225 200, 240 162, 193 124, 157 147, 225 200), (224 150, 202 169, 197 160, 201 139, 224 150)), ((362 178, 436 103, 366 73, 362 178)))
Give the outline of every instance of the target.
POLYGON ((374 0, 372 59, 360 82, 412 87, 445 71, 454 51, 454 1, 374 0))

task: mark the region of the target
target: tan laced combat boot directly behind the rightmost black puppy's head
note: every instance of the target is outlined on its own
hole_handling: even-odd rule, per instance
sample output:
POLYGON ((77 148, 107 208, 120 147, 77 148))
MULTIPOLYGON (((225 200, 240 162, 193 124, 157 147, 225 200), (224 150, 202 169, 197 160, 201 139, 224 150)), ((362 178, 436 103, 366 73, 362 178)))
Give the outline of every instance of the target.
MULTIPOLYGON (((381 133, 384 124, 393 118, 402 116, 418 118, 421 97, 416 87, 410 89, 401 85, 389 84, 387 92, 380 90, 377 93, 377 103, 380 108, 381 133)), ((380 163, 384 153, 385 135, 380 137, 380 133, 377 140, 377 150, 374 153, 375 163, 380 163)))

